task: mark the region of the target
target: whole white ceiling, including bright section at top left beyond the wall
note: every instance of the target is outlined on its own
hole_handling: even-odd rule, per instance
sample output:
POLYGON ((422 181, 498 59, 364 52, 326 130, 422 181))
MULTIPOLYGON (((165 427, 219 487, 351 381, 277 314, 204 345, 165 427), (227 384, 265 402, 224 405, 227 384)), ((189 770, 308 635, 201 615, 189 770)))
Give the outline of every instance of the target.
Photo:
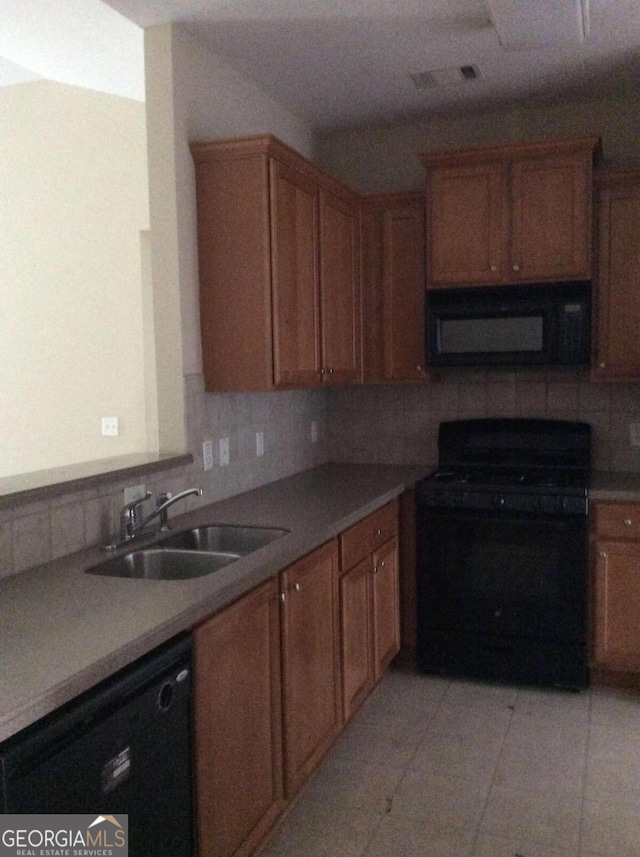
POLYGON ((3 0, 0 83, 22 67, 142 98, 139 28, 168 21, 316 128, 640 93, 640 0, 3 0), (467 65, 478 79, 411 79, 467 65))

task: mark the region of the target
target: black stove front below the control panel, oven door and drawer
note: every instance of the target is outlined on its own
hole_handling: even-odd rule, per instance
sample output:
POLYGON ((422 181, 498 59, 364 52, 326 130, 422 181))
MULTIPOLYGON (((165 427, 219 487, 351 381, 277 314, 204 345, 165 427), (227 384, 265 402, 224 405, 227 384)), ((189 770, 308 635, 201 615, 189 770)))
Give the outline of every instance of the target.
POLYGON ((553 684, 546 661, 576 657, 557 683, 584 683, 586 516, 428 508, 417 523, 422 666, 553 684))

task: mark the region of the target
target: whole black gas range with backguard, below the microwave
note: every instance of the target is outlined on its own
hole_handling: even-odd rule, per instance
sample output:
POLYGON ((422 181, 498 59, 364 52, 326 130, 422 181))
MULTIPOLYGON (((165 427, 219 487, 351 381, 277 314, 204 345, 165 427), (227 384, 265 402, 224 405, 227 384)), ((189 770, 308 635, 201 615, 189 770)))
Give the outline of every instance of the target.
POLYGON ((584 687, 591 428, 442 423, 418 483, 418 662, 425 670, 584 687))

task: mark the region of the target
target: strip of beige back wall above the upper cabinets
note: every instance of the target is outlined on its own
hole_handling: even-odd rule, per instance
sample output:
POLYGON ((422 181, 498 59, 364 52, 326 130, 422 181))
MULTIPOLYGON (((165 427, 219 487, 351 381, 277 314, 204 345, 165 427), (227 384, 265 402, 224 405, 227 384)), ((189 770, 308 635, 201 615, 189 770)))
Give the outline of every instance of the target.
POLYGON ((318 136, 322 167, 361 193, 412 190, 424 186, 419 152, 459 149, 545 137, 599 135, 608 162, 640 162, 640 97, 560 102, 487 110, 452 117, 318 136))

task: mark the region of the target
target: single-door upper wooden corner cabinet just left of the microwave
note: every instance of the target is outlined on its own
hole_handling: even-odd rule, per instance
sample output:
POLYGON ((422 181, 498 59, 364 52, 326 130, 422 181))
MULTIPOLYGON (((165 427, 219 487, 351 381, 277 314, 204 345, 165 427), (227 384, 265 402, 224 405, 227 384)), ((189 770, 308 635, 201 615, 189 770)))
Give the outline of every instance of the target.
POLYGON ((365 382, 425 381, 423 192, 362 200, 365 382))

